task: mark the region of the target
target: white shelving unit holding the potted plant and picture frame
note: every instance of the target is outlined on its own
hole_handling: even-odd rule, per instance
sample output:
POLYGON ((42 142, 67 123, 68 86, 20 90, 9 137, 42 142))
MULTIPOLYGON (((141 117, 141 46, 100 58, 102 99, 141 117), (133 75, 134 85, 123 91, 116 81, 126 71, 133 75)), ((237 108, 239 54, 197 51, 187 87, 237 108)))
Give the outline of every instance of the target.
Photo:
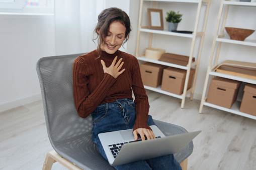
POLYGON ((193 99, 193 94, 194 94, 194 91, 195 91, 195 84, 196 84, 196 79, 197 79, 197 74, 198 74, 201 52, 202 52, 202 48, 203 48, 203 42, 204 42, 204 36, 205 36, 205 30, 206 30, 206 25, 207 25, 211 0, 155 0, 155 1, 151 0, 150 1, 150 2, 154 2, 153 3, 153 8, 154 9, 156 8, 156 5, 158 3, 162 3, 162 2, 165 2, 165 3, 167 2, 167 3, 197 4, 198 5, 197 6, 197 15, 196 15, 196 21, 195 21, 193 34, 174 33, 174 32, 169 32, 169 31, 166 31, 166 30, 163 30, 163 31, 162 30, 152 30, 152 29, 147 29, 147 27, 141 26, 143 3, 148 2, 148 1, 150 1, 150 0, 140 0, 139 29, 138 29, 137 47, 136 47, 136 57, 137 57, 137 59, 140 60, 140 61, 145 61, 145 62, 156 63, 156 64, 165 65, 165 66, 169 66, 169 67, 184 69, 184 70, 187 70, 187 74, 186 74, 185 85, 184 85, 184 90, 183 90, 182 95, 177 95, 177 94, 173 94, 173 93, 163 91, 163 90, 161 90, 161 86, 159 86, 157 88, 153 88, 153 87, 149 87, 149 86, 144 86, 144 87, 145 87, 145 89, 148 89, 148 90, 152 90, 152 91, 155 91, 155 92, 158 92, 158 93, 162 93, 162 94, 165 94, 165 95, 169 95, 169 96, 173 96, 173 97, 182 99, 181 108, 184 108, 186 96, 188 94, 191 94, 190 98, 191 98, 191 100, 193 99), (204 19, 204 23, 203 23, 202 32, 198 32, 200 13, 201 13, 201 10, 202 10, 201 7, 203 5, 206 6, 205 19, 204 19), (153 34, 161 34, 161 35, 170 36, 170 41, 172 41, 172 39, 171 39, 172 36, 188 38, 188 41, 192 41, 188 65, 187 66, 181 66, 181 65, 177 65, 177 64, 161 62, 161 61, 158 61, 158 60, 151 60, 151 59, 145 58, 144 57, 145 54, 139 54, 140 36, 141 36, 140 33, 141 32, 149 33, 149 35, 148 35, 148 36, 150 36, 149 48, 151 48, 151 46, 152 46, 153 34), (200 43, 199 49, 197 49, 198 50, 198 55, 193 56, 194 50, 195 50, 195 42, 196 42, 197 37, 201 38, 201 43, 200 43), (193 57, 195 57, 195 59, 196 59, 195 62, 192 61, 193 57), (195 69, 196 69, 195 75, 194 75, 194 81, 193 81, 192 87, 187 90, 188 82, 189 82, 190 69, 192 67, 195 67, 195 69))

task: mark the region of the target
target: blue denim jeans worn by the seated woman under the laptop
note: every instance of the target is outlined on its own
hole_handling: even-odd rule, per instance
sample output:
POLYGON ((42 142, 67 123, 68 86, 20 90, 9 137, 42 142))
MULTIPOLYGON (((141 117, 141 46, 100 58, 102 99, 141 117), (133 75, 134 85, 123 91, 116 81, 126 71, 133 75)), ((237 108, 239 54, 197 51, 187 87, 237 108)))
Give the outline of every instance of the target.
MULTIPOLYGON (((108 160, 98 134, 132 129, 136 120, 135 103, 131 99, 117 99, 114 103, 101 104, 93 111, 92 117, 94 123, 92 129, 93 141, 97 144, 102 156, 108 160)), ((150 115, 148 115, 147 124, 149 126, 155 125, 150 115)), ((114 167, 116 169, 181 169, 180 163, 174 158, 173 154, 114 167)))

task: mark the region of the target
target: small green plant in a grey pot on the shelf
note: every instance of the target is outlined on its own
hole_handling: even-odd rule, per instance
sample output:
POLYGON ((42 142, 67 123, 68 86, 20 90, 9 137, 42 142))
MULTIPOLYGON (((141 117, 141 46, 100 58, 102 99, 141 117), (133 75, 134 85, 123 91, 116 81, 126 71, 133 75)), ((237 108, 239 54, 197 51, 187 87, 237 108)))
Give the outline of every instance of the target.
POLYGON ((178 23, 182 21, 183 14, 176 13, 175 11, 169 11, 166 13, 167 17, 165 17, 166 22, 168 22, 168 31, 176 31, 178 27, 178 23))

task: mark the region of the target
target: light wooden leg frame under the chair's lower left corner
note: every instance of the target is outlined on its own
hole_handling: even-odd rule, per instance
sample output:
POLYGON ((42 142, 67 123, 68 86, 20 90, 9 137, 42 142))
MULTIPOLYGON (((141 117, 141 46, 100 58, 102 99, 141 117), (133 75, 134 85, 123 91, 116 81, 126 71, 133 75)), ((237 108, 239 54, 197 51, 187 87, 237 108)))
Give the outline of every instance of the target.
POLYGON ((42 170, 50 170, 52 168, 53 163, 55 163, 56 161, 68 169, 82 170, 81 168, 74 165, 70 161, 61 157, 55 150, 52 150, 46 154, 42 170))

